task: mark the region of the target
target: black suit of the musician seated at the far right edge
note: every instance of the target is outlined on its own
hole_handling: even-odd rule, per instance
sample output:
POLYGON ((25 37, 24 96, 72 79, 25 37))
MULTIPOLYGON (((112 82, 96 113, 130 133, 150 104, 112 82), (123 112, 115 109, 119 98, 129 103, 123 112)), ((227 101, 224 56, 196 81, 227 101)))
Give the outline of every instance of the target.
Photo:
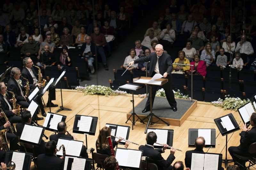
POLYGON ((245 162, 241 161, 237 157, 234 156, 234 153, 242 156, 250 156, 248 152, 250 144, 256 142, 256 126, 253 126, 249 131, 242 131, 240 133, 240 145, 239 146, 230 146, 228 148, 228 152, 230 153, 232 159, 234 161, 239 162, 240 164, 244 165, 245 162))

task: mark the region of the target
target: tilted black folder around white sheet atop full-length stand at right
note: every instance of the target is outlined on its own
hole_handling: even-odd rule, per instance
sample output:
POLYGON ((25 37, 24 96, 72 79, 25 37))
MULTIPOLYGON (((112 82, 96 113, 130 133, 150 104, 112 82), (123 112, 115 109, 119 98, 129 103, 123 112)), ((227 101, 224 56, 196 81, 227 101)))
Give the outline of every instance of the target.
POLYGON ((235 132, 235 131, 240 129, 237 122, 236 122, 236 119, 234 118, 232 113, 230 113, 228 115, 221 116, 219 118, 216 118, 216 119, 214 119, 214 122, 217 125, 218 129, 220 130, 220 133, 221 133, 222 136, 228 135, 229 133, 235 132), (226 128, 223 128, 223 126, 221 125, 221 118, 225 117, 225 116, 228 116, 230 118, 230 120, 231 120, 232 124, 234 125, 235 129, 227 131, 226 128))

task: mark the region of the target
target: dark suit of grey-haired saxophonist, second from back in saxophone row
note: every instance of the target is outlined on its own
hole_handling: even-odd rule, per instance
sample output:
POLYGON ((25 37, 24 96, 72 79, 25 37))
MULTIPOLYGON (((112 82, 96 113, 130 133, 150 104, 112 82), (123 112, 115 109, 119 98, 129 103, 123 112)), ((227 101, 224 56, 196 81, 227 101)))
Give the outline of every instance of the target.
MULTIPOLYGON (((21 90, 23 91, 23 94, 25 95, 25 88, 21 85, 21 90)), ((18 86, 17 81, 14 78, 10 78, 7 85, 8 91, 12 91, 15 94, 15 98, 17 100, 17 103, 22 106, 28 108, 29 103, 25 100, 25 98, 21 95, 20 88, 18 86)))

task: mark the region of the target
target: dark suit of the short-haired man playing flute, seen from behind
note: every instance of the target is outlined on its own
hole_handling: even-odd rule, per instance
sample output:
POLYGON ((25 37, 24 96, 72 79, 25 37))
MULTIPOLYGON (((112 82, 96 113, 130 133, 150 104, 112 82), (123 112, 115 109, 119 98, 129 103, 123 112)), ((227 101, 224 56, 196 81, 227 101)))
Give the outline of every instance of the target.
POLYGON ((157 165, 158 170, 170 170, 172 169, 172 162, 175 159, 175 156, 170 154, 166 160, 162 157, 163 153, 162 148, 154 149, 149 145, 140 145, 139 150, 143 151, 143 156, 148 156, 149 163, 154 163, 157 165))

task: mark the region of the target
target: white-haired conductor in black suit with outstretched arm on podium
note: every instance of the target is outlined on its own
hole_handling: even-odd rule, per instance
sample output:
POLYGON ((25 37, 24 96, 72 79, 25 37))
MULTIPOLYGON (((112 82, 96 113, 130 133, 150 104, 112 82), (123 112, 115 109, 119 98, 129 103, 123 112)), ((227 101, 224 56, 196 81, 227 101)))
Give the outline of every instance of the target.
MULTIPOLYGON (((149 62, 149 75, 153 77, 156 73, 163 75, 163 78, 167 78, 168 82, 163 85, 165 96, 174 112, 177 111, 177 102, 174 99, 174 93, 172 91, 172 58, 169 54, 164 53, 164 48, 161 44, 156 45, 156 52, 151 53, 148 56, 141 57, 129 63, 129 66, 137 63, 149 62)), ((152 85, 152 107, 156 96, 156 85, 152 85)), ((148 98, 146 106, 142 113, 150 110, 150 99, 148 98)))

